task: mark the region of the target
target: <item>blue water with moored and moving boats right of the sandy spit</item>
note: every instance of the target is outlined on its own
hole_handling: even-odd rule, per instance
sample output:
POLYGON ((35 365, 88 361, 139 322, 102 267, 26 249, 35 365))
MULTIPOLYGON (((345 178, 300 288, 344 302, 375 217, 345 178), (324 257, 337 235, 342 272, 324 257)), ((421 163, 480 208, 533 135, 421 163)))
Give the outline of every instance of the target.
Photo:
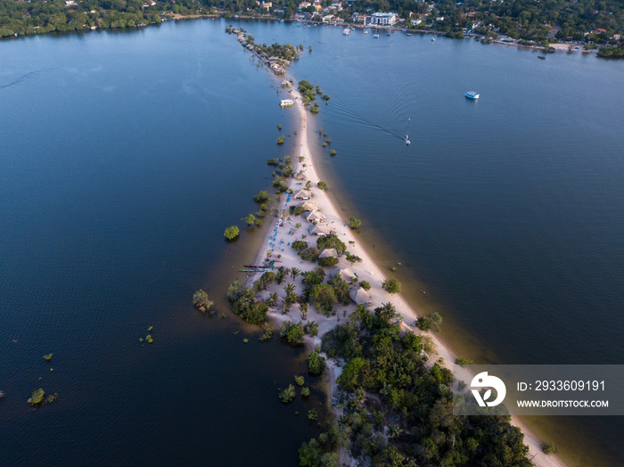
MULTIPOLYGON (((443 315, 452 348, 481 363, 621 364, 624 62, 246 27, 304 45, 293 74, 332 96, 312 117, 337 152, 316 143, 330 189, 382 265, 401 263, 407 298, 443 315)), ((573 464, 624 457, 619 417, 529 422, 573 464)))

